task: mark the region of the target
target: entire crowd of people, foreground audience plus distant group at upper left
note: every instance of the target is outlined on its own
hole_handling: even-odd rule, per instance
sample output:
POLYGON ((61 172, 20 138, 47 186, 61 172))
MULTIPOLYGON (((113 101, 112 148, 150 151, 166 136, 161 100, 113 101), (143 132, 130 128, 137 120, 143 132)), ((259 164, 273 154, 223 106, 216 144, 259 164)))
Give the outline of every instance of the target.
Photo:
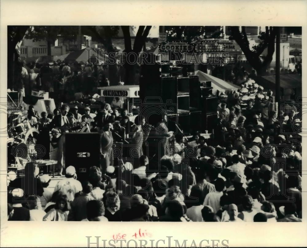
MULTIPOLYGON (((52 85, 46 83, 52 82, 46 76, 50 74, 57 78, 58 90, 65 91, 69 82, 82 82, 88 73, 101 75, 100 86, 107 84, 103 68, 74 65, 75 69, 68 64, 45 65, 33 84, 48 85, 45 90, 50 92, 52 85)), ((33 66, 30 70, 35 71, 33 66)), ((8 219, 300 222, 301 140, 293 132, 293 127, 301 128, 300 110, 293 105, 281 111, 273 92, 251 77, 241 84, 238 92, 220 95, 210 139, 197 130, 192 138, 180 132, 172 136, 166 114, 153 126, 145 116, 131 122, 120 98, 102 103, 95 113, 89 105, 83 115, 77 106, 70 109, 65 104, 54 115, 38 116, 29 108, 28 120, 40 130, 45 128, 40 132, 45 136, 37 139, 41 143, 48 140, 49 131, 67 123, 99 132, 100 165, 91 166, 86 180, 78 181, 76 168, 63 164, 64 140, 49 137, 49 142, 58 144, 58 169, 65 178, 50 188, 50 176, 39 176, 35 164, 27 163, 23 177, 8 180, 8 219), (112 147, 125 142, 127 134, 135 151, 133 161, 124 163, 112 147), (146 142, 151 137, 153 145, 146 142)), ((95 92, 96 85, 84 86, 87 94, 95 92)), ((65 93, 60 96, 65 99, 65 93)))

